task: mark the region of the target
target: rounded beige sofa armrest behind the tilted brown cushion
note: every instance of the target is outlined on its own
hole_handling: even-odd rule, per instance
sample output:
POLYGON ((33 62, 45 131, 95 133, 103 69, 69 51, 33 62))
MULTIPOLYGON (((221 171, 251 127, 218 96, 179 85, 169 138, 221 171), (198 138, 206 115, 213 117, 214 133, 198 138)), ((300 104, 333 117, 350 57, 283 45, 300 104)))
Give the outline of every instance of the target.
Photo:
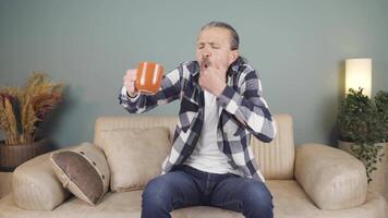
MULTIPOLYGON (((80 145, 66 147, 62 150, 77 146, 80 145)), ((51 153, 24 162, 13 172, 12 189, 14 202, 19 207, 52 210, 70 196, 70 192, 57 179, 50 162, 51 153)))

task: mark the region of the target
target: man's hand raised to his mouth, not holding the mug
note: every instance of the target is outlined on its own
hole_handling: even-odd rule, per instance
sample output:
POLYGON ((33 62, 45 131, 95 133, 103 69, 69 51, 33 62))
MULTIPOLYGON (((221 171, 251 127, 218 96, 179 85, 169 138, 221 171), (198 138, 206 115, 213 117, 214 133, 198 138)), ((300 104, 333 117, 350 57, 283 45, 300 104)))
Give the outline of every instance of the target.
POLYGON ((218 97, 227 86, 226 75, 227 68, 214 64, 202 64, 199 86, 218 97))

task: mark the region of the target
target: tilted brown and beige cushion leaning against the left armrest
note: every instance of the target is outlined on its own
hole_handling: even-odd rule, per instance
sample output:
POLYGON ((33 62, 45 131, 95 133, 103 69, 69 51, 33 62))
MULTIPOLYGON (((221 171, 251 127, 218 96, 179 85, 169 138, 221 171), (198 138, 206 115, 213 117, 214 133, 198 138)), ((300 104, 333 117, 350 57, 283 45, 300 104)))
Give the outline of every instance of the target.
POLYGON ((110 172, 100 148, 89 143, 52 153, 50 160, 58 179, 84 202, 96 205, 109 187, 110 172))

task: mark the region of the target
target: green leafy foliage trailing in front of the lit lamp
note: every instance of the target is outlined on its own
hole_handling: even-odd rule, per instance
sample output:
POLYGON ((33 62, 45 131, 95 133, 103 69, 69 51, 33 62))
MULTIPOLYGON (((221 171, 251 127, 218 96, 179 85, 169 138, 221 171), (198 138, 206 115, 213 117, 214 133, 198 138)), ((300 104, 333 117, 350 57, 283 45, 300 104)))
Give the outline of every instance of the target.
POLYGON ((339 147, 352 153, 363 161, 368 183, 372 172, 377 170, 384 153, 384 121, 378 116, 376 105, 363 89, 350 89, 342 99, 338 113, 339 147))

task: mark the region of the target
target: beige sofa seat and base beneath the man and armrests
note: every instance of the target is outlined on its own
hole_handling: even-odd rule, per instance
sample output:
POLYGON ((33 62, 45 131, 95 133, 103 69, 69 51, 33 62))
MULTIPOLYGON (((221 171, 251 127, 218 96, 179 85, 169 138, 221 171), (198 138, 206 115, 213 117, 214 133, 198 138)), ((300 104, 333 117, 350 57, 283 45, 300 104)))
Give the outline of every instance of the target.
MULTIPOLYGON (((351 209, 326 210, 316 207, 295 180, 267 180, 274 196, 276 218, 384 218, 387 205, 381 195, 369 192, 365 204, 351 209)), ((13 196, 0 199, 0 217, 10 218, 140 218, 142 191, 108 192, 104 201, 90 207, 72 197, 53 211, 21 209, 13 196)), ((171 213, 172 218, 243 218, 242 214, 215 207, 186 207, 171 213)))

